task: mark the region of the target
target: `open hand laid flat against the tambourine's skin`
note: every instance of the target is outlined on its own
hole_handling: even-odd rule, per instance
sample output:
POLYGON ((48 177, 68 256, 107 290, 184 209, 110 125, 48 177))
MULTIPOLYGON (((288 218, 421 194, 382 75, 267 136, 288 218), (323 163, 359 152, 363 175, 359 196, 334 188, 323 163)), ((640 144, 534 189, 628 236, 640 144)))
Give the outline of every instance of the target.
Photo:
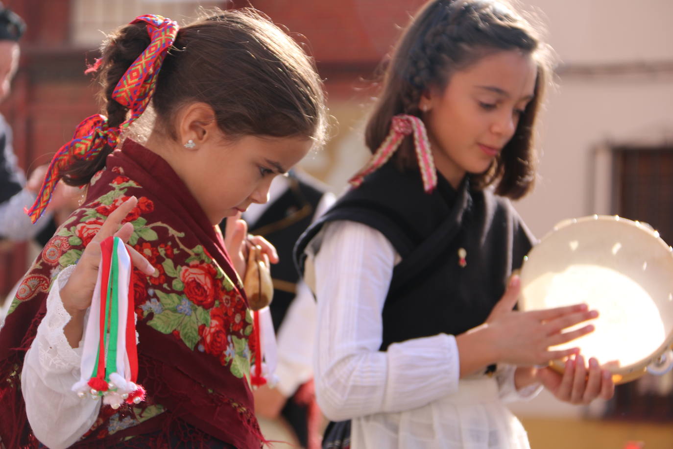
POLYGON ((487 318, 494 361, 522 366, 545 365, 550 360, 563 359, 579 351, 578 348, 550 351, 549 347, 594 331, 594 326, 588 324, 563 332, 570 326, 598 316, 596 310, 587 310, 586 304, 518 312, 512 309, 519 291, 520 279, 512 276, 507 291, 487 318))

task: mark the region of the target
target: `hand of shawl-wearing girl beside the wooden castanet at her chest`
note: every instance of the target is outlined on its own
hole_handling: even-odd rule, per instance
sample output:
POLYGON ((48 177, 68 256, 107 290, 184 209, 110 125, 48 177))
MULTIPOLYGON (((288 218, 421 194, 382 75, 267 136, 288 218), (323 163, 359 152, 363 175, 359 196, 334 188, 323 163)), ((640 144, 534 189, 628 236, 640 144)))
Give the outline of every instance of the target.
POLYGON ((224 245, 227 247, 229 257, 232 258, 234 269, 241 279, 246 275, 248 265, 248 250, 250 246, 260 246, 262 248, 262 257, 264 261, 269 258, 269 262, 278 263, 278 253, 276 248, 262 236, 248 236, 248 223, 240 219, 238 213, 232 217, 227 217, 227 226, 224 232, 224 245))

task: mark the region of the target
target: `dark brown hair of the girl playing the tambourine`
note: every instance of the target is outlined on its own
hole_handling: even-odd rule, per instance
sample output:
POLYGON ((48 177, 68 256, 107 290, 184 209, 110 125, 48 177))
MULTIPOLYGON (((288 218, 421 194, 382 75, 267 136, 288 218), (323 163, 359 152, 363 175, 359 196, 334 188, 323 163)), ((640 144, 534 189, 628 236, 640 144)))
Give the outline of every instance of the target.
MULTIPOLYGON (((521 50, 534 55, 538 63, 534 98, 491 168, 482 174, 470 174, 470 178, 477 188, 499 181, 497 195, 513 199, 526 195, 535 176, 534 125, 550 71, 546 49, 532 26, 505 3, 429 1, 400 38, 386 67, 382 94, 365 131, 367 146, 372 152, 380 147, 394 115, 420 117, 423 92, 431 88, 444 90, 456 71, 494 51, 521 50)), ((411 138, 404 139, 395 158, 400 168, 416 166, 411 138)))

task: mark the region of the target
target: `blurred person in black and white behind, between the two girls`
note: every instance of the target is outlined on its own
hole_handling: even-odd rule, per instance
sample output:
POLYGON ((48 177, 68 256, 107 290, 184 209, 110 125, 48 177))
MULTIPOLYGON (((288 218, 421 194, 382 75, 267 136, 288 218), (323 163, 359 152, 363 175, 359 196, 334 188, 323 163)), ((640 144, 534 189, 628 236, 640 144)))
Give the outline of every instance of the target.
MULTIPOLYGON (((279 256, 279 263, 271 267, 274 292, 269 306, 277 339, 278 383, 254 391, 255 412, 265 433, 267 427, 287 430, 289 425, 296 442, 309 449, 320 446, 322 417, 312 368, 316 304, 310 289, 299 280, 292 250, 299 236, 333 203, 334 195, 324 184, 306 172, 291 170, 288 176, 273 180, 268 203, 251 204, 242 213, 250 232, 269 240, 279 256)), ((220 223, 222 232, 225 224, 220 223)), ((283 440, 280 435, 269 434, 269 438, 283 440)))

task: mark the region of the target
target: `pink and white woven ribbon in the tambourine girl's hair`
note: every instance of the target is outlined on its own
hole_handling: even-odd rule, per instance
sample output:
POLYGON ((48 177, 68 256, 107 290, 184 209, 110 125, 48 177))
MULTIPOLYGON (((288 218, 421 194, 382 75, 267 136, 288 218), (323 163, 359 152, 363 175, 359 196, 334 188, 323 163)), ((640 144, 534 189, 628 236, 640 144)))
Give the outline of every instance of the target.
POLYGON ((435 186, 437 186, 437 171, 435 170, 435 162, 432 158, 425 125, 423 125, 423 120, 417 116, 407 114, 398 114, 392 118, 390 133, 388 133, 386 139, 374 151, 374 155, 371 156, 371 159, 369 159, 362 170, 357 172, 349 182, 355 187, 362 184, 365 176, 388 162, 398 147, 400 147, 400 143, 402 143, 404 137, 412 133, 414 135, 416 157, 419 169, 421 170, 421 177, 423 178, 423 189, 427 193, 432 192, 435 186))

